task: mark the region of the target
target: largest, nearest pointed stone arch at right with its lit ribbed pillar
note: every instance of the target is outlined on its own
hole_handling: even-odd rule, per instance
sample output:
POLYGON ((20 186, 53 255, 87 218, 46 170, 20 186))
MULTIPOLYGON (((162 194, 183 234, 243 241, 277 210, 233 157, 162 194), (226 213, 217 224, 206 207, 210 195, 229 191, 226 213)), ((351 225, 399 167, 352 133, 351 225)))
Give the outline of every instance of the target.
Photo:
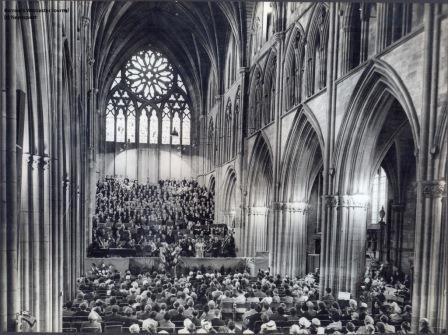
POLYGON ((333 194, 326 197, 321 292, 330 287, 357 295, 365 270, 372 173, 398 136, 397 128, 406 127, 414 148, 418 143, 415 111, 399 79, 381 63, 368 67, 362 78, 342 123, 333 194))

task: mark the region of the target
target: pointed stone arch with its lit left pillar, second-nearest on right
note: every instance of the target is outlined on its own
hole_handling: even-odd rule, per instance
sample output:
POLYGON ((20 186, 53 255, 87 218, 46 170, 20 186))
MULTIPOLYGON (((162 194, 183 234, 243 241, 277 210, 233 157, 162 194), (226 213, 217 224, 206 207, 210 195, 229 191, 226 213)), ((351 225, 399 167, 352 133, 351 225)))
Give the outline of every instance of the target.
MULTIPOLYGON (((288 135, 280 174, 281 214, 272 247, 271 266, 275 273, 301 276, 307 272, 307 252, 318 232, 321 203, 317 187, 323 167, 322 134, 312 114, 299 109, 288 135), (315 192, 316 194, 313 194, 315 192)), ((314 269, 308 269, 313 271, 314 269)))

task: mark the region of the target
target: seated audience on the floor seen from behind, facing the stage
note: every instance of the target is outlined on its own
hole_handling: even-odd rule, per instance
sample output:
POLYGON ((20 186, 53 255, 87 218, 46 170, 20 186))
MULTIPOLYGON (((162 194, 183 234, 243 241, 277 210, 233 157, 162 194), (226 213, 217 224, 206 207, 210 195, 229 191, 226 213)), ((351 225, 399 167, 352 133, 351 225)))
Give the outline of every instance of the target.
MULTIPOLYGON (((315 275, 305 278, 273 276, 266 271, 256 278, 247 272, 200 270, 187 270, 177 277, 155 269, 122 274, 101 264, 92 266, 84 277, 79 278, 74 301, 81 303, 66 303, 64 311, 66 316, 78 313, 85 317, 82 328, 94 332, 101 332, 101 322, 147 334, 410 332, 407 321, 401 322, 400 326, 391 321, 390 316, 397 309, 391 308, 387 299, 378 302, 378 314, 372 314, 364 302, 354 299, 348 302, 348 307, 341 308, 336 301, 327 307, 318 300, 317 278, 315 275), (267 299, 245 307, 226 305, 232 305, 233 299, 241 294, 246 297, 264 295, 267 299), (285 294, 292 300, 285 299, 285 294), (308 297, 306 301, 301 299, 304 295, 308 297), (326 313, 321 313, 323 311, 326 313), (241 316, 241 321, 234 319, 236 314, 241 316), (362 321, 360 315, 364 315, 362 321), (236 322, 242 322, 242 330, 236 322)), ((410 313, 410 306, 406 305, 402 310, 400 315, 410 313)), ((426 319, 421 320, 420 331, 431 333, 426 319)))

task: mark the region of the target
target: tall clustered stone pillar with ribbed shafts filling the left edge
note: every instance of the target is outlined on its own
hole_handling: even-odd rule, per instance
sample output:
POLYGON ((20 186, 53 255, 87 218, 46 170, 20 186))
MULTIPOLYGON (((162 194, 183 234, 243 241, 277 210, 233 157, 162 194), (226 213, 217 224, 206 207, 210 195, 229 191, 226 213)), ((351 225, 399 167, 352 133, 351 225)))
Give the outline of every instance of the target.
POLYGON ((62 303, 73 298, 85 255, 87 211, 79 189, 89 172, 80 159, 88 109, 80 106, 87 92, 73 78, 88 79, 78 73, 87 59, 69 46, 88 42, 76 38, 77 13, 90 5, 11 1, 1 2, 0 10, 43 5, 52 13, 39 20, 0 17, 3 332, 17 329, 23 311, 35 317, 34 330, 61 331, 62 303))

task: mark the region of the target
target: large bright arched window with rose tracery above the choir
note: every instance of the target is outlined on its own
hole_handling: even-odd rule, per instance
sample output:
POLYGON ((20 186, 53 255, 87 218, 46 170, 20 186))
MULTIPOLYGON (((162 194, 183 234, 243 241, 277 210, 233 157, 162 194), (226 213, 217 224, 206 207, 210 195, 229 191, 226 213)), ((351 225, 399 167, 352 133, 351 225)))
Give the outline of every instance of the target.
POLYGON ((184 113, 191 119, 187 89, 180 73, 160 52, 139 51, 118 71, 111 85, 105 111, 106 141, 135 143, 138 132, 140 144, 179 144, 182 132, 188 140, 181 144, 189 145, 190 122, 180 121, 184 113), (173 127, 179 136, 171 141, 171 120, 175 114, 173 127))

